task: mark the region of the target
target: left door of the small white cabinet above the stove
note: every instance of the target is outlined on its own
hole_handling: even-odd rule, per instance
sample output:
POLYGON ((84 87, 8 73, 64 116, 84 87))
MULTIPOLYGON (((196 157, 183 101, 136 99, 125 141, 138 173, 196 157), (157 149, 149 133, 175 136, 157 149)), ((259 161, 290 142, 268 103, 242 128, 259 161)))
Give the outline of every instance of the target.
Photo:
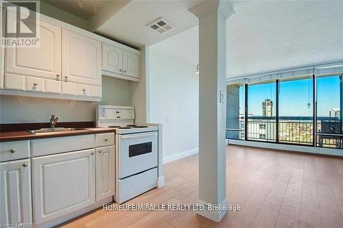
POLYGON ((102 43, 102 70, 117 74, 123 73, 123 50, 102 43))

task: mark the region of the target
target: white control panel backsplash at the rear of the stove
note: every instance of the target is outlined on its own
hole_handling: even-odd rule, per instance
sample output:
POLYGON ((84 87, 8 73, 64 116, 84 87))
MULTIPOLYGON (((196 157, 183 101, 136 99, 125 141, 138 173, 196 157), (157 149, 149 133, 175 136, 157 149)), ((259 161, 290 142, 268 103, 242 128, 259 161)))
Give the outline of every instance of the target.
POLYGON ((134 119, 134 107, 132 106, 99 105, 97 112, 98 119, 134 119))

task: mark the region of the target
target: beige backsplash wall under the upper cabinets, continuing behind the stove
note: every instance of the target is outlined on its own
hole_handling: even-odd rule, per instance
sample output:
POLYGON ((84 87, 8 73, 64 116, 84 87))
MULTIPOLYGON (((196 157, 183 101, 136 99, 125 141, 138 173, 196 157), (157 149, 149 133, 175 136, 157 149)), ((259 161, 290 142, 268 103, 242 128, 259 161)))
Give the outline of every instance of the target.
MULTIPOLYGON (((102 101, 108 105, 131 105, 130 81, 102 77, 102 101)), ((0 123, 46 123, 51 114, 61 122, 95 121, 97 103, 33 97, 0 96, 0 123)))

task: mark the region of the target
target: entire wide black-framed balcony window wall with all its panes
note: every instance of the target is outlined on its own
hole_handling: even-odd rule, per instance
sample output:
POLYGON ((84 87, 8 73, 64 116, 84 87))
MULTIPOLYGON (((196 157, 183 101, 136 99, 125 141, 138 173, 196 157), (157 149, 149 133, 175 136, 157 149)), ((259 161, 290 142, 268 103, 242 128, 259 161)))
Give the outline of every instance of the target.
POLYGON ((226 138, 343 149, 343 63, 243 77, 226 88, 226 138))

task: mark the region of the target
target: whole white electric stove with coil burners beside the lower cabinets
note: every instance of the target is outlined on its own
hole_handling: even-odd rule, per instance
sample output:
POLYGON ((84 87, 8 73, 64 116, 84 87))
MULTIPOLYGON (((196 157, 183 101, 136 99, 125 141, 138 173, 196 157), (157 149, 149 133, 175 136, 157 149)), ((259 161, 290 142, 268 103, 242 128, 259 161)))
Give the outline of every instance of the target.
POLYGON ((115 201, 157 186, 158 127, 135 124, 133 106, 98 105, 97 127, 115 128, 115 201))

